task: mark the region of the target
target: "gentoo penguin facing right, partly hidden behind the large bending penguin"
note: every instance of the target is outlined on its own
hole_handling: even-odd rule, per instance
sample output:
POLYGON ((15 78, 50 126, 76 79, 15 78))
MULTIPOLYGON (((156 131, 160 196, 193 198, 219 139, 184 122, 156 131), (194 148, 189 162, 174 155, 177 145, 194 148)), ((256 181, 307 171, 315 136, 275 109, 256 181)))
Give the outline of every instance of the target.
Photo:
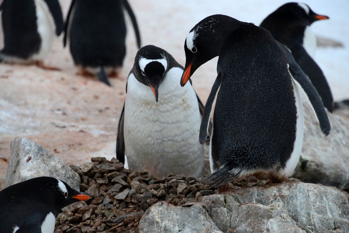
POLYGON ((313 60, 316 38, 310 25, 328 16, 315 14, 304 3, 286 3, 263 20, 260 27, 267 29, 272 36, 291 50, 295 61, 309 77, 318 91, 322 103, 333 112, 334 102, 331 89, 322 70, 313 60))

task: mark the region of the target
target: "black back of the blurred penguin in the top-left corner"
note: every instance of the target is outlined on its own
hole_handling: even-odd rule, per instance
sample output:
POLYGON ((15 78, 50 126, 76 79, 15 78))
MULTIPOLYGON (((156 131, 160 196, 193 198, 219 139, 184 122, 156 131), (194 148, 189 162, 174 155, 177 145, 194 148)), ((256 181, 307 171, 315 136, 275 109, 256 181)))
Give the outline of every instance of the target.
POLYGON ((27 59, 41 46, 34 0, 3 0, 1 4, 5 44, 1 53, 27 59))

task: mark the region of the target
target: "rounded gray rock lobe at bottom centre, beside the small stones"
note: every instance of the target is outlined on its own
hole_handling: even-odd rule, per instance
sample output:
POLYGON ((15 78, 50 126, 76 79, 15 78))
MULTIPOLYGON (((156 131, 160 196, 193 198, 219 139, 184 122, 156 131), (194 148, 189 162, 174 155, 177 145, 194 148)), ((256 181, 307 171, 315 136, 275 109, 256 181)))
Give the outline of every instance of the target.
POLYGON ((201 205, 174 206, 167 202, 152 205, 139 223, 140 233, 222 233, 201 205))

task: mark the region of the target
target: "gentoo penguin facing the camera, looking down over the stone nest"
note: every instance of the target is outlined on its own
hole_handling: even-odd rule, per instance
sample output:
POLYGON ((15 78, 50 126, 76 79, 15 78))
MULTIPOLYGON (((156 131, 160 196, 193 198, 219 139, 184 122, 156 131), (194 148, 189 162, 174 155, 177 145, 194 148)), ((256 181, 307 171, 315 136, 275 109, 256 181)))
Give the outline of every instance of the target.
MULTIPOLYGON (((126 84, 116 157, 130 169, 156 176, 198 177, 204 149, 197 141, 203 104, 192 85, 181 88, 183 67, 162 48, 147 45, 136 54, 126 84)), ((206 139, 206 138, 205 138, 206 139)))

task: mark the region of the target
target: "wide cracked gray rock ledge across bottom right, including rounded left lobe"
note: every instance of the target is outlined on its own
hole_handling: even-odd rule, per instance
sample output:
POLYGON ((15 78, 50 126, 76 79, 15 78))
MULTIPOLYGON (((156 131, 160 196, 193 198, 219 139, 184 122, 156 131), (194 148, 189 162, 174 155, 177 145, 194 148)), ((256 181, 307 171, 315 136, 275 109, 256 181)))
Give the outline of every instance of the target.
POLYGON ((157 203, 139 227, 142 233, 349 232, 349 203, 336 188, 289 182, 203 196, 181 207, 157 203))

